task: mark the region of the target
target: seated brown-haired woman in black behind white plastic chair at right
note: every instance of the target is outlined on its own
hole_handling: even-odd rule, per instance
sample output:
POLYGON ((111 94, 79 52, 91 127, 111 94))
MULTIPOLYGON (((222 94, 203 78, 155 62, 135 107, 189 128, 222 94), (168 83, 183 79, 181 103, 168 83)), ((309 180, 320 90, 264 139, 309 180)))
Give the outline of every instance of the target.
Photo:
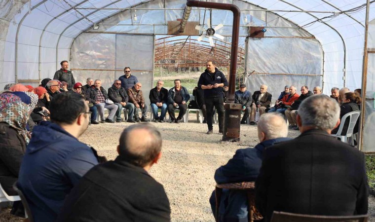
MULTIPOLYGON (((346 113, 349 113, 351 111, 359 111, 359 105, 361 104, 361 102, 362 102, 361 97, 355 95, 354 93, 352 93, 352 92, 345 93, 344 96, 343 96, 343 99, 342 99, 342 104, 340 106, 340 109, 341 109, 340 119, 346 113)), ((357 120, 357 123, 355 124, 353 133, 358 132, 358 122, 359 122, 359 118, 357 120)), ((349 118, 346 118, 344 126, 342 128, 341 136, 346 135, 346 131, 348 130, 348 126, 349 126, 349 118)), ((336 129, 332 130, 331 134, 337 134, 339 127, 340 126, 338 126, 336 129)))

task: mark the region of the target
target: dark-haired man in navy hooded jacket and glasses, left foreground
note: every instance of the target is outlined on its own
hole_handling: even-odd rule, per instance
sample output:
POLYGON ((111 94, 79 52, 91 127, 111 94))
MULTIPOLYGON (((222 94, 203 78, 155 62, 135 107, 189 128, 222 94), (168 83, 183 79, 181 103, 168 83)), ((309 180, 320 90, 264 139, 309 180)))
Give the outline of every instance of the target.
POLYGON ((36 222, 55 221, 71 189, 99 162, 96 151, 77 139, 90 118, 83 97, 60 93, 49 111, 51 122, 42 121, 33 130, 18 179, 36 222))

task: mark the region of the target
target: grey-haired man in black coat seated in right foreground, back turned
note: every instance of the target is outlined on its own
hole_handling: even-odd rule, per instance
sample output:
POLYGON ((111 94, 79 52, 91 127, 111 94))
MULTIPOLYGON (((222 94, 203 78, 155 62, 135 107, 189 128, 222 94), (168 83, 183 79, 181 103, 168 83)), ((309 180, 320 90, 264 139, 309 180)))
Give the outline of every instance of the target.
POLYGON ((368 211, 365 155, 331 137, 340 124, 338 103, 310 96, 298 109, 300 136, 267 147, 256 180, 256 206, 269 222, 273 211, 350 216, 368 211))

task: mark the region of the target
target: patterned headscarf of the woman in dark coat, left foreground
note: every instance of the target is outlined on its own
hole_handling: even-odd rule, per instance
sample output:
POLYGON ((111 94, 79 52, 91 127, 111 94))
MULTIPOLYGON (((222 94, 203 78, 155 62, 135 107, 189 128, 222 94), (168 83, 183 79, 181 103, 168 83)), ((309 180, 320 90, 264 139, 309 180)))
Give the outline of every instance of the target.
MULTIPOLYGON (((0 103, 5 103, 5 100, 0 100, 0 103)), ((26 142, 26 145, 30 142, 30 134, 26 130, 27 120, 29 119, 31 109, 23 102, 6 103, 5 109, 0 111, 0 122, 6 122, 10 127, 17 130, 18 134, 21 135, 26 142)))

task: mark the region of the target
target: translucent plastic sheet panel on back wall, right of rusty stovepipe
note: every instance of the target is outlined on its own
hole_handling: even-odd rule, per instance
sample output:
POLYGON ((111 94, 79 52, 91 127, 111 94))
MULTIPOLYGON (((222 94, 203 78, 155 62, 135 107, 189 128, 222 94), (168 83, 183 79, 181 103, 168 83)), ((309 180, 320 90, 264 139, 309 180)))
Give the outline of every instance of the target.
POLYGON ((246 85, 251 92, 265 84, 275 101, 285 85, 294 85, 297 93, 303 85, 311 91, 322 85, 323 51, 316 39, 248 38, 247 44, 246 85))

